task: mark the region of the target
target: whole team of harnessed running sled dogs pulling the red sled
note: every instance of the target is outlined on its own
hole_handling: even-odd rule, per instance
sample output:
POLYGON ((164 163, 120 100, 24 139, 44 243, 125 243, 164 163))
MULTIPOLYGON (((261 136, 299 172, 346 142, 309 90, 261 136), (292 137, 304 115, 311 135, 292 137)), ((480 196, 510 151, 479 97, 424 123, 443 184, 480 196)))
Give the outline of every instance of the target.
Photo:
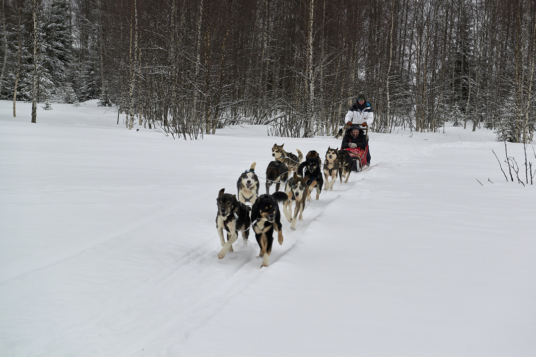
POLYGON ((243 172, 237 183, 238 199, 236 195, 225 193, 222 188, 217 198, 218 214, 216 227, 220 236, 221 250, 219 259, 223 259, 227 252, 233 252, 233 243, 238 238, 238 232, 243 239, 248 239, 249 229, 253 227, 255 238, 260 247, 259 256, 263 258, 262 267, 268 266, 272 252, 273 232, 277 232, 279 244, 283 244, 281 230, 281 212, 278 203, 283 203, 283 214, 291 230, 296 229, 296 218, 302 219, 305 201, 311 200, 310 193, 316 190, 316 199, 324 189, 333 189, 333 184, 339 175, 340 183, 348 181, 352 170, 352 157, 346 150, 327 148, 324 165, 315 150, 309 151, 305 161, 303 154, 296 149, 298 155, 285 151, 283 145, 272 147, 274 161, 266 169, 266 194, 258 195, 259 179, 255 173, 256 162, 249 170, 243 172), (323 176, 322 177, 322 173, 323 176), (331 180, 330 180, 331 178, 331 180), (270 187, 276 184, 276 192, 270 194, 270 187), (279 188, 284 185, 284 191, 279 188), (246 204, 252 204, 251 207, 246 204), (292 204, 294 203, 294 214, 292 204), (227 232, 227 242, 224 237, 227 232))

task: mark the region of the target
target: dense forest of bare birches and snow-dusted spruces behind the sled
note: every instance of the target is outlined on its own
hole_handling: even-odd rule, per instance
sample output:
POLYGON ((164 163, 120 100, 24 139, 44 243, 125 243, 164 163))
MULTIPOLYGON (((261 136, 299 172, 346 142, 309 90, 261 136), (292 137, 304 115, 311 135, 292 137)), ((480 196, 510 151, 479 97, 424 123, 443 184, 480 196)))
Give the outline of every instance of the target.
POLYGON ((530 143, 536 0, 1 0, 0 99, 98 99, 198 139, 226 125, 332 135, 485 127, 530 143))

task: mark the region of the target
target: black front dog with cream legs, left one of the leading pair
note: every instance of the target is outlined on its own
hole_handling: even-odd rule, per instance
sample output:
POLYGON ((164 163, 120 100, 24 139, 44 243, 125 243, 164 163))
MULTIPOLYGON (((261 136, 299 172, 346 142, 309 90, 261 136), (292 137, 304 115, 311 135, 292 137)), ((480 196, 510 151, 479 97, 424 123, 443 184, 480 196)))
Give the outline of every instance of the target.
POLYGON ((225 193, 225 188, 220 189, 216 202, 218 204, 216 229, 222 246, 218 259, 223 259, 227 252, 233 252, 233 243, 238 238, 239 231, 242 232, 242 238, 248 239, 251 220, 245 204, 239 202, 235 195, 225 193), (227 231, 227 242, 224 230, 227 231))

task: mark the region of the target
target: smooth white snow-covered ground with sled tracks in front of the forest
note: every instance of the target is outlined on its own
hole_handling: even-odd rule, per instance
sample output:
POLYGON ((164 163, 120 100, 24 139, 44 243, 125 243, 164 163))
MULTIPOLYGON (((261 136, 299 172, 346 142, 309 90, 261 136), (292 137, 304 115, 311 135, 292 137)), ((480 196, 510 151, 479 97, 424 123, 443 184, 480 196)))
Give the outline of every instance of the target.
POLYGON ((536 185, 504 179, 491 131, 371 133, 370 168, 308 202, 296 231, 284 221, 261 269, 253 234, 218 260, 218 191, 252 162, 265 177, 274 143, 323 157, 339 140, 174 140, 95 101, 39 107, 36 124, 11 106, 0 356, 536 355, 536 185))

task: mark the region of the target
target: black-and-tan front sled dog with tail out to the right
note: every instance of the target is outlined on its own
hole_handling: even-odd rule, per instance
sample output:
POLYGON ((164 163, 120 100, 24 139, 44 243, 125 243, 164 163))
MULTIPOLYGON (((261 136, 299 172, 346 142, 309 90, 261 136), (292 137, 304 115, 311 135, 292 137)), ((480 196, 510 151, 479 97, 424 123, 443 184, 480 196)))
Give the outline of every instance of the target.
POLYGON ((285 202, 287 195, 284 192, 274 192, 273 195, 260 195, 251 208, 253 231, 260 247, 259 256, 263 258, 261 267, 268 266, 272 252, 273 231, 277 232, 277 241, 283 244, 281 230, 281 212, 277 202, 285 202))

